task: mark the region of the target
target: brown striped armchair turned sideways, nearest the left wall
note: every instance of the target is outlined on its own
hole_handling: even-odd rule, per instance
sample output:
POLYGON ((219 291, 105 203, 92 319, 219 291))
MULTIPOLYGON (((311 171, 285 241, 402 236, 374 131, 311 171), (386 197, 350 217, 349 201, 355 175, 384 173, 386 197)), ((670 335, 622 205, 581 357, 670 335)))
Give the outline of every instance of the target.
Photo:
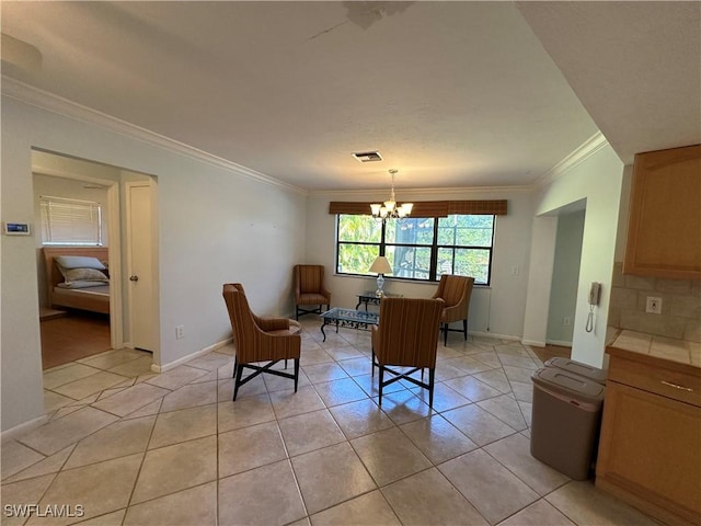
POLYGON ((287 318, 260 318, 255 316, 249 308, 249 301, 240 283, 225 284, 222 294, 231 320, 233 343, 237 347, 233 364, 233 400, 237 399, 239 388, 261 373, 295 380, 295 392, 297 392, 301 325, 287 318), (286 369, 287 361, 295 361, 294 374, 271 368, 281 359, 285 361, 286 369), (256 362, 267 362, 267 364, 253 365, 256 362), (244 368, 253 369, 254 373, 241 379, 244 368))

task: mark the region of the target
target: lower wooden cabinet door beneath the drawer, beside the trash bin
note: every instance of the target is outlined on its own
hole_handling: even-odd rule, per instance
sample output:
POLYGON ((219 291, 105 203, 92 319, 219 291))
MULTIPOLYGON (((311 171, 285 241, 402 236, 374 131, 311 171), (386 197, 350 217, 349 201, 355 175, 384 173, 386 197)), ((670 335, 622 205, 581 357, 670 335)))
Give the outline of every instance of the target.
POLYGON ((597 478, 697 524, 700 444, 701 408, 607 382, 597 478))

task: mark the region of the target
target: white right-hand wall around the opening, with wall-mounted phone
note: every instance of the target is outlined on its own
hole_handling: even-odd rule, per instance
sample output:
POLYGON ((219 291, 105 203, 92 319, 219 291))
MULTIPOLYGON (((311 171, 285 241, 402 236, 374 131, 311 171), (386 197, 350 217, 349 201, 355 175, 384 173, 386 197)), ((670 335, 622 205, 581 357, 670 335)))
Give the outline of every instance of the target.
MULTIPOLYGON (((572 357, 595 367, 601 367, 604 363, 622 175, 623 163, 607 145, 535 195, 538 216, 586 199, 572 357), (585 331, 585 325, 591 282, 600 282, 602 293, 601 301, 595 309, 595 330, 589 333, 585 331)), ((539 249, 532 247, 531 250, 539 249)), ((548 301, 533 308, 548 312, 548 301)), ((528 331, 530 328, 525 327, 524 332, 528 331)))

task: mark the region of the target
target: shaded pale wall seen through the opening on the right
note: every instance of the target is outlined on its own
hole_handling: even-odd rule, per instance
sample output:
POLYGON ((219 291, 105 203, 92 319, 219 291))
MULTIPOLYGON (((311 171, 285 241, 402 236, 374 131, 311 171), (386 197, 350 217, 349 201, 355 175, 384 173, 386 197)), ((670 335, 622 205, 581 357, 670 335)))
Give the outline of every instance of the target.
POLYGON ((555 258, 548 313, 548 342, 558 345, 572 344, 577 306, 577 283, 582 260, 585 210, 558 216, 555 258), (570 319, 565 324, 564 319, 570 319))

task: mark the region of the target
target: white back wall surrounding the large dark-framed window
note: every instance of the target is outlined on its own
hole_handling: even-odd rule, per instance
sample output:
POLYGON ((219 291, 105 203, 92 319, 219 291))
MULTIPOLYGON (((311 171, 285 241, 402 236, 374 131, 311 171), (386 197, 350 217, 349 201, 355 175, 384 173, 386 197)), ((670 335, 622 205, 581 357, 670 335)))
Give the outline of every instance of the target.
MULTIPOLYGON (((355 307, 356 295, 375 289, 375 277, 334 275, 335 270, 335 216, 329 214, 331 201, 377 201, 387 192, 317 194, 309 197, 307 207, 307 263, 326 267, 326 286, 334 307, 355 307)), ((508 199, 508 215, 496 220, 496 231, 490 287, 475 286, 470 302, 469 327, 471 334, 492 334, 520 339, 526 302, 526 276, 530 247, 532 217, 530 195, 526 191, 491 191, 458 188, 453 191, 398 192, 399 201, 441 199, 508 199), (516 274, 514 274, 514 271, 516 274)), ((430 297, 436 283, 403 282, 386 276, 384 289, 411 297, 430 297)))

